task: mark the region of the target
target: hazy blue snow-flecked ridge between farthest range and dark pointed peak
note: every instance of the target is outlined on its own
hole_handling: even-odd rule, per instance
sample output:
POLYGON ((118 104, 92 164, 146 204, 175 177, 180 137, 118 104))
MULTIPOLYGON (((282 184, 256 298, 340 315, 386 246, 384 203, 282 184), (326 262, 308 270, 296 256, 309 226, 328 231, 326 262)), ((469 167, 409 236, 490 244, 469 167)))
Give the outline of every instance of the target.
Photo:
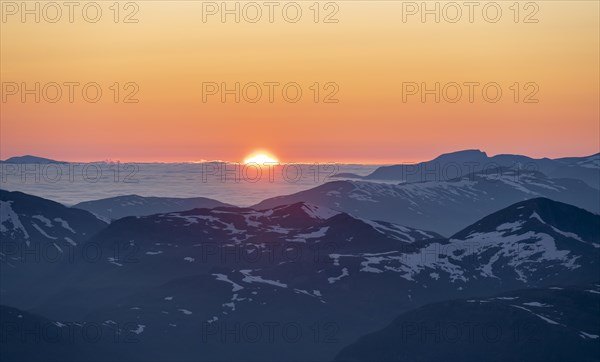
POLYGON ((515 202, 547 197, 600 211, 600 192, 575 179, 500 168, 449 181, 385 184, 334 181, 292 195, 264 200, 253 208, 306 201, 349 214, 451 235, 465 225, 515 202))

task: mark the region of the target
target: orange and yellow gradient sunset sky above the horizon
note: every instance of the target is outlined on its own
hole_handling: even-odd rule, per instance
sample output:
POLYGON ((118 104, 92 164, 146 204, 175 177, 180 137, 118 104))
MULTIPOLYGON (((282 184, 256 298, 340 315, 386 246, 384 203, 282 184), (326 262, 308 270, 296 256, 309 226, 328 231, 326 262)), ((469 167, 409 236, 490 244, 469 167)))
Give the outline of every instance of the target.
POLYGON ((473 23, 466 14, 457 23, 417 16, 404 23, 402 2, 390 1, 336 2, 339 22, 315 23, 313 2, 299 3, 297 23, 277 12, 274 23, 266 16, 204 23, 197 1, 137 2, 132 24, 113 22, 112 1, 100 2, 97 23, 80 12, 73 23, 7 17, 3 84, 97 82, 103 95, 94 104, 80 93, 73 103, 66 94, 39 104, 8 96, 0 103, 0 157, 241 161, 265 149, 282 162, 393 163, 465 148, 534 157, 600 150, 596 1, 536 2, 538 23, 515 23, 513 2, 500 2, 497 23, 477 10, 473 23), (114 103, 115 82, 137 83, 139 103, 114 103), (297 82, 303 97, 203 103, 203 82, 297 82), (315 103, 315 82, 336 82, 339 103, 315 103), (497 82, 503 95, 497 103, 480 91, 473 103, 466 94, 457 103, 418 96, 403 103, 402 82, 497 82), (515 82, 535 82, 539 103, 515 103, 515 82))

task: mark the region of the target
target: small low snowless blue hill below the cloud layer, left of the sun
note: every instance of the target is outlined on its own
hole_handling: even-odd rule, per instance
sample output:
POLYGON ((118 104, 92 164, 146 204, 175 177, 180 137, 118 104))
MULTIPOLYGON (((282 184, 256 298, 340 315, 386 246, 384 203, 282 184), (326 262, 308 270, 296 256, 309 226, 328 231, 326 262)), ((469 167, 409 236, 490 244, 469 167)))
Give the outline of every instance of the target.
POLYGON ((89 211, 103 220, 116 220, 126 216, 146 216, 196 208, 232 207, 232 205, 206 197, 176 198, 125 195, 85 201, 73 207, 89 211))

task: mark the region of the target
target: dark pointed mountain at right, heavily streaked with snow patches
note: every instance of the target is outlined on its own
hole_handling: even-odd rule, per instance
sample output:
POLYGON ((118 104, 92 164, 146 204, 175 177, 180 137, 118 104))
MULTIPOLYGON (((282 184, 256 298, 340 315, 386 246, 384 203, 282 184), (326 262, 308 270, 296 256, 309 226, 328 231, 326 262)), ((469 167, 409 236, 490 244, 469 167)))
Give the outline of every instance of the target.
POLYGON ((515 287, 594 282, 600 276, 600 216, 545 198, 493 213, 449 240, 380 254, 330 254, 350 271, 392 273, 409 281, 515 287))

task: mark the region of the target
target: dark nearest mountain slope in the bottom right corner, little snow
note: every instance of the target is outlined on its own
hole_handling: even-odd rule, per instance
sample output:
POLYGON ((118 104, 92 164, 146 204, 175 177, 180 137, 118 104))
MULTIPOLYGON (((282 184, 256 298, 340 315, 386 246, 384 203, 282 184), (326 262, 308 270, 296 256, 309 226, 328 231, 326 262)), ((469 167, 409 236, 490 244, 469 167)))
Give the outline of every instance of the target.
POLYGON ((440 302, 405 312, 337 361, 597 361, 600 285, 440 302))

